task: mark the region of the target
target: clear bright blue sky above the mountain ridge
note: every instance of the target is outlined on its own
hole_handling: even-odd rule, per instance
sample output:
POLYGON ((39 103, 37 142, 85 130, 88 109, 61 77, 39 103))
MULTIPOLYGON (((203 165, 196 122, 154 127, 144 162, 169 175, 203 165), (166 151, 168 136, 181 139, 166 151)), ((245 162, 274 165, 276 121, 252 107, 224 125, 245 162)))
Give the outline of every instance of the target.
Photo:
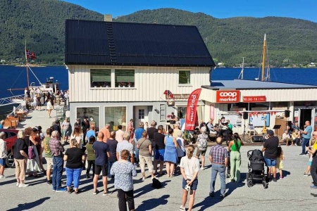
POLYGON ((178 8, 214 18, 277 16, 317 23, 317 0, 63 0, 113 18, 136 11, 178 8))

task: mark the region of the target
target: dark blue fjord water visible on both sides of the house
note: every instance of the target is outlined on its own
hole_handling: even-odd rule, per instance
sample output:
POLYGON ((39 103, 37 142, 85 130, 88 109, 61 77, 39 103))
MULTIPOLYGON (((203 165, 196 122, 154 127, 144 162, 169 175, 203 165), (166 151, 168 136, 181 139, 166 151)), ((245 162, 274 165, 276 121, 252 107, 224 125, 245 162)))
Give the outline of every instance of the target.
MULTIPOLYGON (((68 89, 68 70, 64 66, 47 66, 31 68, 40 82, 46 82, 49 77, 58 80, 61 89, 68 89)), ((241 68, 216 68, 211 73, 212 80, 237 79, 241 68)), ((0 98, 24 94, 23 90, 12 91, 27 87, 27 73, 25 67, 0 65, 0 98)), ((30 83, 39 85, 32 72, 29 71, 30 83)), ((259 68, 244 68, 244 79, 254 80, 259 76, 259 68)), ((317 86, 317 68, 271 68, 271 82, 283 82, 291 84, 311 84, 317 86)), ((207 85, 207 84, 206 84, 207 85)), ((163 89, 162 89, 163 90, 163 89)))

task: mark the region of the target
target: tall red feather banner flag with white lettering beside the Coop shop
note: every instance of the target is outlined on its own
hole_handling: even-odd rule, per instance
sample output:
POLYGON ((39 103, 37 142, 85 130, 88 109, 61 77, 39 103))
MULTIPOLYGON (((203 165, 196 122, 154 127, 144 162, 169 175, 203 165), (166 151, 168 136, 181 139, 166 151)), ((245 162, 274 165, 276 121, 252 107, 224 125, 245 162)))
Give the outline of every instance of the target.
POLYGON ((186 110, 186 122, 185 129, 186 130, 194 130, 195 122, 197 119, 197 103, 199 99, 199 95, 201 93, 201 89, 196 89, 189 95, 187 101, 187 110, 186 110))

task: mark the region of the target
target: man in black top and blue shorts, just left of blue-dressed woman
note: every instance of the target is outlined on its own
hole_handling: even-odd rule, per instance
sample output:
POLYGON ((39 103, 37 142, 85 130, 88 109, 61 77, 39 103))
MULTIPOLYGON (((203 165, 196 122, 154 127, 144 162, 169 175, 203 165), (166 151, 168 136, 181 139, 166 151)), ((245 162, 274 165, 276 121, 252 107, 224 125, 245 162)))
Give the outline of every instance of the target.
POLYGON ((154 174, 157 174, 157 164, 160 162, 160 175, 163 175, 165 136, 163 134, 163 125, 159 125, 158 132, 154 133, 155 153, 154 153, 154 174))

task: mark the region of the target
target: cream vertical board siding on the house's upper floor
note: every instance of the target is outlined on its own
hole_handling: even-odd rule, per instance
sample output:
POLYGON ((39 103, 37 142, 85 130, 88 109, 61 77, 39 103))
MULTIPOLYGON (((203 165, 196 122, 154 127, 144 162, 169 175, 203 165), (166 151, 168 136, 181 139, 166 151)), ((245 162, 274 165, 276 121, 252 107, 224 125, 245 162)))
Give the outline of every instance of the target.
MULTIPOLYGON (((135 87, 90 87, 90 69, 120 71, 126 67, 69 65, 70 102, 165 101, 163 92, 190 94, 209 84, 210 68, 128 67, 135 70, 135 87), (178 71, 190 70, 190 84, 178 84, 178 71)), ((178 101, 178 100, 176 100, 178 101)))

